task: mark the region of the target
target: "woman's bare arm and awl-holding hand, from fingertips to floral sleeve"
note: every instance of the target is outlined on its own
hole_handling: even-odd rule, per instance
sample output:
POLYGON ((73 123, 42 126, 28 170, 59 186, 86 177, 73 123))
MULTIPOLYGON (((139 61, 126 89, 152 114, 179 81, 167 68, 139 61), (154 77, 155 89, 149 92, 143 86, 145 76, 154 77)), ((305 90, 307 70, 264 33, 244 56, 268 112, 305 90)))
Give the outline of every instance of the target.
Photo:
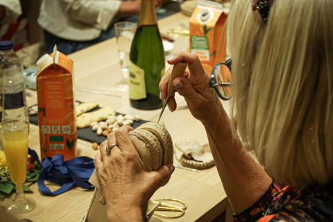
MULTIPOLYGON (((210 78, 195 53, 178 51, 169 64, 185 61, 189 73, 175 78, 173 85, 185 97, 191 114, 205 126, 216 168, 235 214, 252 206, 271 185, 271 178, 250 157, 240 139, 232 134, 230 119, 218 96, 210 88, 210 78)), ((171 69, 160 83, 162 99, 167 97, 171 69)), ((171 110, 176 110, 175 99, 170 99, 171 110)))

